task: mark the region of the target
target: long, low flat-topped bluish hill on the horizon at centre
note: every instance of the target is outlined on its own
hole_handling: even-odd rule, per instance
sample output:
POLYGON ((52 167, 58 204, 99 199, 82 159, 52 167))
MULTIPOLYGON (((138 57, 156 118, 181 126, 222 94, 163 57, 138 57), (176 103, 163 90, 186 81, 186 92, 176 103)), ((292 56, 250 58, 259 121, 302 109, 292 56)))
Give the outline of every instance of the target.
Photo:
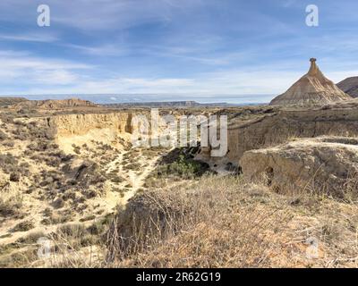
POLYGON ((196 101, 162 101, 162 102, 132 102, 121 104, 104 104, 102 106, 111 108, 125 108, 125 107, 203 107, 203 106, 230 106, 227 103, 209 103, 200 104, 196 101))

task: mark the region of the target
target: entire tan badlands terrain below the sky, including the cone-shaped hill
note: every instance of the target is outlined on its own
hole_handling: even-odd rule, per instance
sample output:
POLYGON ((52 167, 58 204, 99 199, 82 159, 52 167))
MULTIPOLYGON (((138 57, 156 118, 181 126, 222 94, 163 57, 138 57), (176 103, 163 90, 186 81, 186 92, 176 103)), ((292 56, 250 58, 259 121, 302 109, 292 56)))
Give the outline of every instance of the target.
POLYGON ((228 118, 227 154, 134 147, 142 106, 0 97, 1 267, 358 266, 358 101, 310 71, 228 118))

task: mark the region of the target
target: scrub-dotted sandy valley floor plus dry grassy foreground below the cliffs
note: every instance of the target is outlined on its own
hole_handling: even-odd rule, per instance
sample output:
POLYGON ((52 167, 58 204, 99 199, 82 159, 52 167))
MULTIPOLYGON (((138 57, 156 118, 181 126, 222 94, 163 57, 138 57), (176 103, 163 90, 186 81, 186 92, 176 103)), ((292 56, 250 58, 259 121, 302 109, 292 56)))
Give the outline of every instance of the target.
POLYGON ((1 114, 1 267, 357 266, 355 178, 337 197, 314 180, 277 189, 217 173, 199 148, 86 135, 64 152, 41 116, 1 114))

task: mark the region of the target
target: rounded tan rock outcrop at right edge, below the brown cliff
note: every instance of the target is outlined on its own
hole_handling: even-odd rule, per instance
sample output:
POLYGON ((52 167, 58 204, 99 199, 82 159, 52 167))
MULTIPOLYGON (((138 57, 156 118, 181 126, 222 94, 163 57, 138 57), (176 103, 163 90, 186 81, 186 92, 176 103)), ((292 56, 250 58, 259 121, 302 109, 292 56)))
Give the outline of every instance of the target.
POLYGON ((338 195, 347 183, 355 186, 358 182, 358 139, 298 139, 247 151, 240 165, 247 179, 263 179, 277 190, 314 188, 311 190, 328 190, 338 195))

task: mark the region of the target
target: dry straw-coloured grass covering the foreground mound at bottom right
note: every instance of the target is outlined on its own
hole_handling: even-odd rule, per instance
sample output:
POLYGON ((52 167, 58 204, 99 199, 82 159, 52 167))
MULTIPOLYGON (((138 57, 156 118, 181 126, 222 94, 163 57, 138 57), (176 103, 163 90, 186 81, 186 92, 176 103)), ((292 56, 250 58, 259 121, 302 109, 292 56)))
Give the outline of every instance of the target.
POLYGON ((108 233, 107 265, 356 266, 357 215, 355 204, 212 176, 134 198, 108 233), (306 255, 311 237, 315 259, 306 255))

